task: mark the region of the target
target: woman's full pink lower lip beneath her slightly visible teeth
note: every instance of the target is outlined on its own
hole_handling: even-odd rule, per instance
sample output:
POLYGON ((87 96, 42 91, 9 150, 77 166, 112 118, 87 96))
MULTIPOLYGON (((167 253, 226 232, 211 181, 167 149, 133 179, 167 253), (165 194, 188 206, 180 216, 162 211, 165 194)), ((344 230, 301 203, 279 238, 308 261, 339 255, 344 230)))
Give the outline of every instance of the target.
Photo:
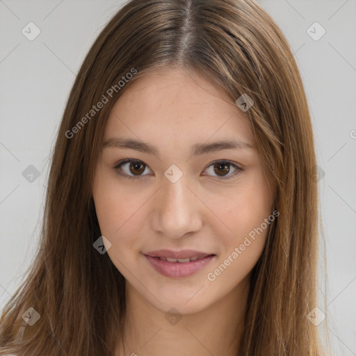
POLYGON ((153 268, 165 277, 188 277, 207 266, 211 259, 215 257, 215 255, 207 256, 203 259, 197 259, 195 261, 185 262, 182 264, 181 262, 168 262, 164 259, 147 256, 147 254, 144 256, 153 268))

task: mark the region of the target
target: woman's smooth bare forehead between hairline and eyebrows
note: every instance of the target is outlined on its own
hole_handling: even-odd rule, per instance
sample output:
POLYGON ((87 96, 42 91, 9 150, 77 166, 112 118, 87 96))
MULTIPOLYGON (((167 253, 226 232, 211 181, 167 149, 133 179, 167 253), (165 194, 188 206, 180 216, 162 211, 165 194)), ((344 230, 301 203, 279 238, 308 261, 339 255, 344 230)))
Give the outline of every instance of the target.
POLYGON ((185 70, 162 70, 133 81, 111 109, 104 137, 122 133, 152 142, 163 136, 177 143, 227 136, 253 142, 245 114, 227 93, 185 70))

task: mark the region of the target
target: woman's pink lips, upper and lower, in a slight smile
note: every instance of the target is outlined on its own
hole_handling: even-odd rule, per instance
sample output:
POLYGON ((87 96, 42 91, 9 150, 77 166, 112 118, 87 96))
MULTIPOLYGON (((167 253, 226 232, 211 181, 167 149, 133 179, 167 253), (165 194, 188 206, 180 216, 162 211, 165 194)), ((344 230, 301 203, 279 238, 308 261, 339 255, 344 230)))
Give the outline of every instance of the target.
POLYGON ((161 275, 165 277, 188 277, 199 270, 202 270, 207 264, 210 263, 212 259, 216 257, 216 254, 208 254, 203 252, 197 252, 194 250, 183 250, 179 252, 174 252, 170 250, 159 250, 154 252, 149 252, 149 254, 144 254, 149 264, 161 275), (199 257, 195 261, 189 262, 169 262, 159 257, 168 257, 175 259, 184 259, 188 257, 199 257))

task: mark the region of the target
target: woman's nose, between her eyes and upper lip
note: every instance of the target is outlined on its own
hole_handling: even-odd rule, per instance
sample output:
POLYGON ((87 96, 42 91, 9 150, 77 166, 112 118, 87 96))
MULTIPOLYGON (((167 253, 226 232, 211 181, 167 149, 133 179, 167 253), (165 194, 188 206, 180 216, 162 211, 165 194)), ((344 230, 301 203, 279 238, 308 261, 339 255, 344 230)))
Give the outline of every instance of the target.
POLYGON ((196 196, 197 193, 193 193, 184 177, 175 183, 164 177, 154 197, 152 228, 169 238, 181 238, 202 227, 201 209, 204 204, 196 196))

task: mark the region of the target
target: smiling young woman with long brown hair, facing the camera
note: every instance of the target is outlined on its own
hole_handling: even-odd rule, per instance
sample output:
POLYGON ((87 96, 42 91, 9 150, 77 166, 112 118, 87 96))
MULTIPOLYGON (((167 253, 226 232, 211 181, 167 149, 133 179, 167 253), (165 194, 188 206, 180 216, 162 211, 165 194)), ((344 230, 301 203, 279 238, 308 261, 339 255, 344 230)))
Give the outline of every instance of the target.
POLYGON ((315 166, 261 6, 129 1, 70 93, 0 355, 325 355, 315 166))

